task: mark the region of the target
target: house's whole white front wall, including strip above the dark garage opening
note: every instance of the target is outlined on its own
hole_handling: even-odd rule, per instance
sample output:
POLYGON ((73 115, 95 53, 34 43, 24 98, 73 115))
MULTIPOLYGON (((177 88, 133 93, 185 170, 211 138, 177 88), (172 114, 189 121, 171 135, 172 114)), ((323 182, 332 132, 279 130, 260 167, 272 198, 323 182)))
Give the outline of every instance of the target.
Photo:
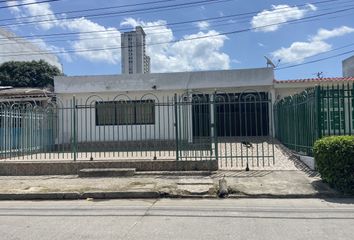
MULTIPOLYGON (((237 93, 249 91, 249 88, 228 88, 220 89, 221 93, 237 93)), ((255 87, 255 91, 270 91, 269 87, 255 87)), ((106 93, 79 93, 75 94, 76 105, 76 136, 78 142, 93 141, 139 141, 147 139, 174 140, 175 139, 175 107, 174 94, 190 96, 193 93, 201 93, 202 89, 190 91, 154 91, 153 95, 148 92, 125 92, 114 94, 106 93), (120 125, 120 126, 96 126, 95 101, 112 100, 155 100, 155 124, 148 125, 120 125), (162 105, 159 105, 162 104, 162 105), (92 108, 83 108, 85 105, 92 105, 92 108)), ((213 94, 215 89, 203 89, 206 94, 213 94)), ((59 111, 59 135, 58 143, 70 143, 73 135, 73 97, 72 94, 57 94, 60 107, 65 109, 59 111)), ((180 101, 180 100, 178 100, 180 101)), ((192 107, 191 105, 178 105, 178 124, 180 131, 179 139, 193 141, 192 107)), ((212 114, 212 111, 211 111, 212 114)), ((269 111, 271 114, 271 111, 269 111)), ((212 115, 213 116, 213 115, 212 115)), ((212 119, 212 118, 211 118, 212 119)), ((213 119, 212 119, 213 121, 213 119)), ((212 133, 212 131, 211 131, 212 133)))

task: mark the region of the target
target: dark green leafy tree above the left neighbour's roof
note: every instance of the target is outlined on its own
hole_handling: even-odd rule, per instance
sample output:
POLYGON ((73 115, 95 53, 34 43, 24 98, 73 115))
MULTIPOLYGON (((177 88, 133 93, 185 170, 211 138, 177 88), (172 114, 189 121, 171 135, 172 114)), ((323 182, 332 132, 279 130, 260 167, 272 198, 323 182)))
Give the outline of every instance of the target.
POLYGON ((54 76, 62 75, 60 70, 47 62, 31 61, 5 62, 0 65, 0 85, 12 87, 52 87, 54 76))

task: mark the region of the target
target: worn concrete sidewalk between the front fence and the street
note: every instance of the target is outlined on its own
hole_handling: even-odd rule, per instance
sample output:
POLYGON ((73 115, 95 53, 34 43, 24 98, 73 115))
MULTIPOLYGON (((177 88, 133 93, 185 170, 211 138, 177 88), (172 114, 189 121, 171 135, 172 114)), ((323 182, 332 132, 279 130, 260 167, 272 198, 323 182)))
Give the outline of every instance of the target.
POLYGON ((1 176, 0 199, 216 198, 225 178, 235 198, 341 197, 315 172, 219 171, 210 176, 137 175, 124 178, 1 176))

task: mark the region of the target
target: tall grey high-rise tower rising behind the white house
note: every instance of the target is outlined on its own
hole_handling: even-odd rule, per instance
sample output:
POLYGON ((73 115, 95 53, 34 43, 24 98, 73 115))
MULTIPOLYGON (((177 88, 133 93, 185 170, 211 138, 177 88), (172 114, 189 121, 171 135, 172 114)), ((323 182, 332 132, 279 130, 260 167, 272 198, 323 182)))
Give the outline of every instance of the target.
POLYGON ((135 31, 122 33, 122 73, 149 73, 150 57, 145 52, 145 32, 142 27, 135 31))

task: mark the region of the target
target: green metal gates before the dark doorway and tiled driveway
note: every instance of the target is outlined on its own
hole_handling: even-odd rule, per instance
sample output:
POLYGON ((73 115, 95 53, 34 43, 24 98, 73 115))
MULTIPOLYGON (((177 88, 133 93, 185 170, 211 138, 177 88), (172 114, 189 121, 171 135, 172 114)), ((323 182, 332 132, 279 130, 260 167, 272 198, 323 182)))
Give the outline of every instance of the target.
POLYGON ((178 159, 216 159, 221 169, 275 164, 269 93, 193 94, 177 105, 178 159))

